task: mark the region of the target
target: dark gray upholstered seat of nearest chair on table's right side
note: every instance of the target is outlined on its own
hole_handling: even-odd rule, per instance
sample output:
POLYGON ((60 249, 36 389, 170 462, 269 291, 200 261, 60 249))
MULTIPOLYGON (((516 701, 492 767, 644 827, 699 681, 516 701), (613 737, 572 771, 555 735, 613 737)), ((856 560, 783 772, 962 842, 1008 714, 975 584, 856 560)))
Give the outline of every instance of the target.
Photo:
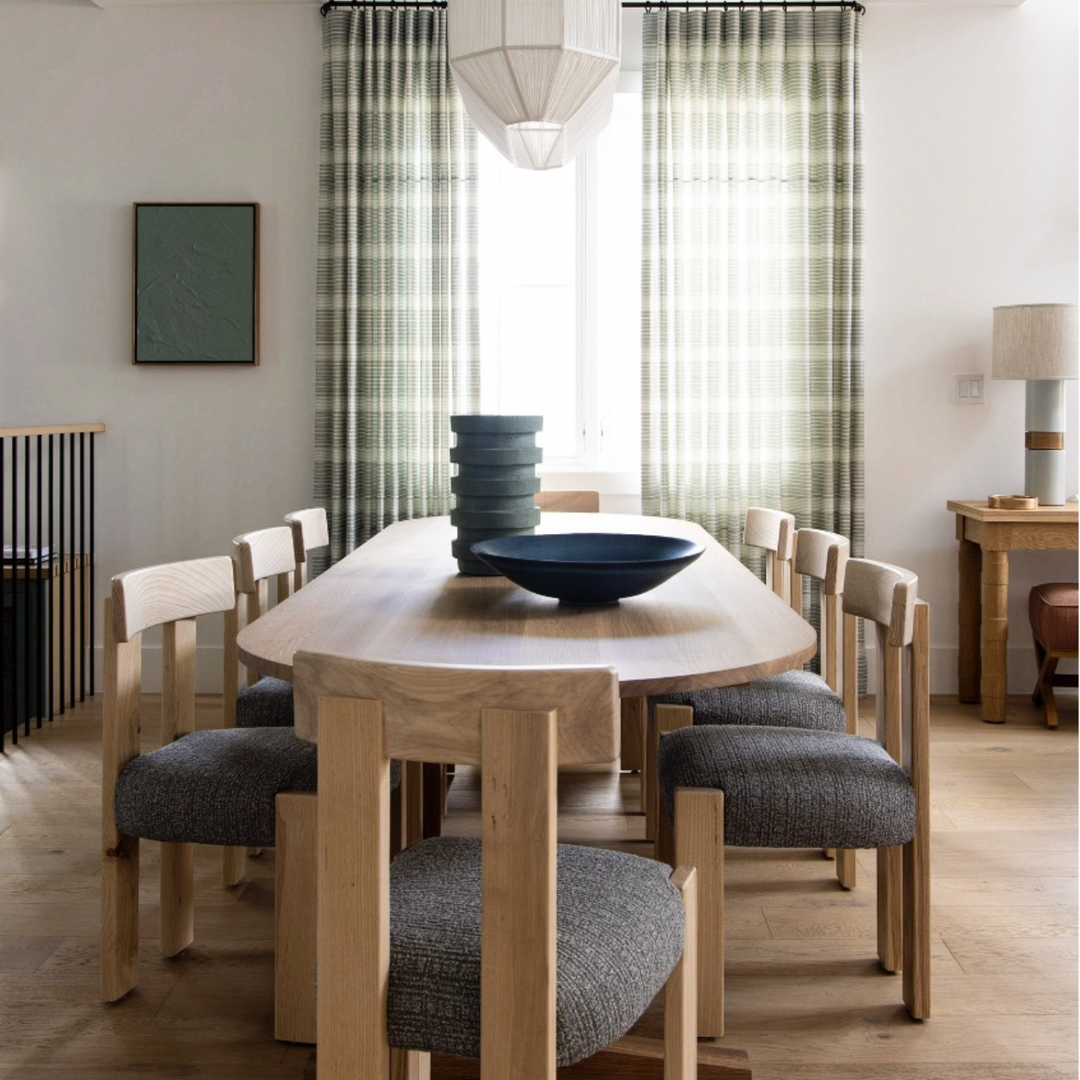
MULTIPOLYGON (((915 834, 908 774, 877 740, 797 728, 681 728, 660 740, 660 795, 724 792, 724 840, 739 848, 886 848, 915 834)), ((676 827, 678 823, 676 822, 676 827)))

